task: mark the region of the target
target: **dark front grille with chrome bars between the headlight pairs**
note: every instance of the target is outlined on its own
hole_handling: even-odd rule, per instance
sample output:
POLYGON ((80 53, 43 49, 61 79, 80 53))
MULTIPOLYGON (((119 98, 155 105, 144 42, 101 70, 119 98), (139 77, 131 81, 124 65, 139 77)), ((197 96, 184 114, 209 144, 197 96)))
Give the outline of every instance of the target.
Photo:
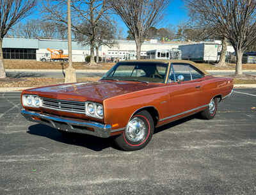
POLYGON ((67 100, 56 100, 51 98, 41 97, 42 107, 54 109, 57 111, 65 111, 69 113, 85 113, 84 102, 74 102, 67 100))

